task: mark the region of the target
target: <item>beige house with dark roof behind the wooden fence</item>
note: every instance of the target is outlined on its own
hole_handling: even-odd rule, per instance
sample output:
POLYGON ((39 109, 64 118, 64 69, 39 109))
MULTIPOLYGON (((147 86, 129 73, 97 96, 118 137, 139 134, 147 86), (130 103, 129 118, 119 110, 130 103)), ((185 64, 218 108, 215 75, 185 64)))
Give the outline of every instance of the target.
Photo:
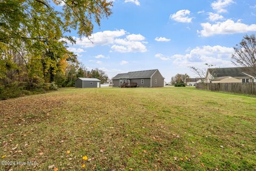
POLYGON ((248 67, 209 68, 206 83, 254 83, 256 75, 248 67))

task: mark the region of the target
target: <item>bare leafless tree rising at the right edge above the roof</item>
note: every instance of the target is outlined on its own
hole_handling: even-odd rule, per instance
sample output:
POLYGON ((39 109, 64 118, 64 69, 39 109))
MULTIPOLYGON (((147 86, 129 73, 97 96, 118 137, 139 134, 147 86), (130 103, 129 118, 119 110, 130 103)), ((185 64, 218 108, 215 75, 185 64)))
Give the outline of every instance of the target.
POLYGON ((255 35, 245 35, 239 45, 234 47, 235 52, 231 59, 238 67, 247 67, 247 70, 256 75, 256 39, 255 35))

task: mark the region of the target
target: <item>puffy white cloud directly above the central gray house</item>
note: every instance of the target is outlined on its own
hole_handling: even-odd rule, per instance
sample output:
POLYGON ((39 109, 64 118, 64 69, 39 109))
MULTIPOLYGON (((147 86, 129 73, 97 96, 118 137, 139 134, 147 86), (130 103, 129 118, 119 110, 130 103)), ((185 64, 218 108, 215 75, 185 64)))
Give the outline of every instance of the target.
POLYGON ((116 52, 146 52, 147 48, 143 43, 138 41, 129 41, 127 39, 115 39, 115 45, 111 46, 111 49, 116 52))

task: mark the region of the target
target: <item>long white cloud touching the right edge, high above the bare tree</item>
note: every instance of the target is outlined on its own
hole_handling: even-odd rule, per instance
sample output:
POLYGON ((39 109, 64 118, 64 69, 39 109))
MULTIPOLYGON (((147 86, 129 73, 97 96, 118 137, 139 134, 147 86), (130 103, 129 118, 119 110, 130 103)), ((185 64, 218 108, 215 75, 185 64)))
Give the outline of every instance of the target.
POLYGON ((218 22, 214 25, 211 25, 209 22, 201 23, 203 30, 197 32, 203 37, 209 37, 217 34, 235 34, 235 33, 244 33, 249 31, 256 31, 256 25, 246 25, 240 22, 234 22, 233 20, 226 20, 224 22, 218 22))

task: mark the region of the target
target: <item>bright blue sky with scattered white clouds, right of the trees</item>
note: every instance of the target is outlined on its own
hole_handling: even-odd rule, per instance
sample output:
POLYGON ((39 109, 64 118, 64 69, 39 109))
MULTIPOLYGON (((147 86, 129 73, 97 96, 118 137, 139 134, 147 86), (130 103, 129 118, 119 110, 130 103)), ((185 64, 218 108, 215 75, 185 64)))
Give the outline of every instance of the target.
MULTIPOLYGON (((110 0, 109 0, 110 1, 110 0)), ((71 36, 69 51, 88 69, 109 78, 158 69, 166 82, 176 74, 196 77, 189 67, 234 67, 233 47, 256 32, 256 1, 115 0, 113 14, 90 37, 71 36)))

